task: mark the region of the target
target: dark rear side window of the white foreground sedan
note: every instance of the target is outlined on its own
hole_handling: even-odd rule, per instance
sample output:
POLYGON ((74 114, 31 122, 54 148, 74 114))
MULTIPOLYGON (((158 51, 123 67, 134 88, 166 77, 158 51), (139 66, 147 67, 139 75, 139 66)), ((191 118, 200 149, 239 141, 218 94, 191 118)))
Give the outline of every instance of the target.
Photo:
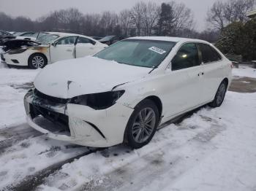
POLYGON ((198 44, 198 47, 202 53, 203 63, 211 63, 222 60, 222 56, 219 55, 219 53, 208 44, 198 44))

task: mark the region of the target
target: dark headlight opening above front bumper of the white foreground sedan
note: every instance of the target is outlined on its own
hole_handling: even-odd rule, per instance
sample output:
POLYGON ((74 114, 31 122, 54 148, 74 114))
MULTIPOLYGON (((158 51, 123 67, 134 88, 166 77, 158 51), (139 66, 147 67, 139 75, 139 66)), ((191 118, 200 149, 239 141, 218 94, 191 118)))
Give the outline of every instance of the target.
POLYGON ((124 90, 79 95, 72 98, 69 103, 89 106, 93 109, 107 109, 116 104, 123 94, 124 90))

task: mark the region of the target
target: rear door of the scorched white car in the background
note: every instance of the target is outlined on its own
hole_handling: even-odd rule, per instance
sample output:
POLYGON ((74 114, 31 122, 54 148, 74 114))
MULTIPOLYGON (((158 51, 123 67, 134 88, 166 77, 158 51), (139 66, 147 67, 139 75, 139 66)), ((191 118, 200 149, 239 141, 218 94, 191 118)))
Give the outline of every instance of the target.
POLYGON ((85 37, 78 36, 78 42, 75 44, 76 58, 86 55, 94 55, 97 50, 96 42, 85 37))

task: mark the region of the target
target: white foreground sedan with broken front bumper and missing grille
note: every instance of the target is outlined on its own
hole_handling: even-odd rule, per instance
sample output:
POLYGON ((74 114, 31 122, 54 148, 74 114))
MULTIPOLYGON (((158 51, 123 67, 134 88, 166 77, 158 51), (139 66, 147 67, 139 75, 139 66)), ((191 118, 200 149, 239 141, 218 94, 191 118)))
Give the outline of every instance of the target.
POLYGON ((178 115, 220 106, 231 70, 232 63, 205 41, 125 39, 93 57, 46 66, 25 95, 27 122, 73 144, 140 148, 178 115), (59 125, 50 129, 39 119, 59 125))

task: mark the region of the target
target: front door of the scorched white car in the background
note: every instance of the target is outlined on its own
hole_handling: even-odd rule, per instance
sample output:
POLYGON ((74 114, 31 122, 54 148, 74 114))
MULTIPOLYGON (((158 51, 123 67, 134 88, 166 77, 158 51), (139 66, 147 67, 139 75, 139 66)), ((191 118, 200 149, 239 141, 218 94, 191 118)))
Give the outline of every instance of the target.
POLYGON ((67 60, 75 58, 75 42, 77 36, 68 36, 57 40, 50 45, 50 61, 67 60))

